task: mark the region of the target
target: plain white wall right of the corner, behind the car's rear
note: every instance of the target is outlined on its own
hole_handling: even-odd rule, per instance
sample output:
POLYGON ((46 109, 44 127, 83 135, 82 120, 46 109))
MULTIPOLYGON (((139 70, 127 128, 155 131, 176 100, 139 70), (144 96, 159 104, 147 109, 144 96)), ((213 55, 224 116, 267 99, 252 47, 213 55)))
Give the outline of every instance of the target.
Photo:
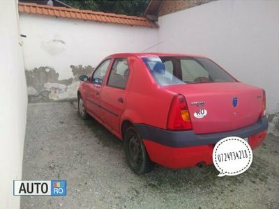
POLYGON ((262 87, 279 112, 279 1, 213 1, 159 17, 159 52, 209 56, 241 82, 262 87))

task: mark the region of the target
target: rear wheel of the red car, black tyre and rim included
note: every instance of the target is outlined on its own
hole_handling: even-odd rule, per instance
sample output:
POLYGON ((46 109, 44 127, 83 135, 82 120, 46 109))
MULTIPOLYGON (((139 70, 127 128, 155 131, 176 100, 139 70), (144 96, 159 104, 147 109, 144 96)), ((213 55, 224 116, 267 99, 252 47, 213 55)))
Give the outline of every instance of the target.
POLYGON ((124 151, 127 158, 128 166, 137 175, 148 173, 153 169, 153 162, 146 153, 142 139, 135 127, 131 126, 124 135, 124 151))

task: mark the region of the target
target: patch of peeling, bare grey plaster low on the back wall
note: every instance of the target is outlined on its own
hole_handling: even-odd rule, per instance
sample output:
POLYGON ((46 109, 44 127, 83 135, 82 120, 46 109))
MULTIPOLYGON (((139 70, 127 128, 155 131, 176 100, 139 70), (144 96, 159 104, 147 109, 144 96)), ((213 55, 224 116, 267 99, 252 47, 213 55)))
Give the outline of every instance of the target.
POLYGON ((80 75, 91 75, 91 65, 70 65, 73 77, 59 79, 59 73, 47 66, 25 70, 27 77, 29 102, 51 100, 73 100, 80 85, 80 75))

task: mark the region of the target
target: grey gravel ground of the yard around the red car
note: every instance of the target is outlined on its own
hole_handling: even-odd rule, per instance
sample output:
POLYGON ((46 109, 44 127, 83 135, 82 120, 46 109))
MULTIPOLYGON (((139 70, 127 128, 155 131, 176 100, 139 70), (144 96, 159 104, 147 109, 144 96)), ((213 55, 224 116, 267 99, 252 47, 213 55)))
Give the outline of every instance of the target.
POLYGON ((65 179, 67 196, 22 196, 21 208, 279 208, 279 139, 269 135, 248 171, 214 166, 144 176, 128 168, 122 142, 75 102, 29 104, 22 179, 65 179))

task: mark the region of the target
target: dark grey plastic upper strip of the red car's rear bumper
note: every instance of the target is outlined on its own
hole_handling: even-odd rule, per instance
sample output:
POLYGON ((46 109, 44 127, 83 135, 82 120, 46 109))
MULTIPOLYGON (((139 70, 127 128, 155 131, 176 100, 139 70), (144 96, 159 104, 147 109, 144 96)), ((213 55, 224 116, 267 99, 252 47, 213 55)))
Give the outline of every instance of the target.
POLYGON ((170 147, 199 146, 205 144, 216 144, 225 137, 246 138, 267 130, 269 123, 267 118, 260 118, 257 123, 229 132, 218 132, 213 134, 195 134, 189 131, 170 131, 153 127, 146 124, 135 124, 142 139, 154 141, 170 147))

